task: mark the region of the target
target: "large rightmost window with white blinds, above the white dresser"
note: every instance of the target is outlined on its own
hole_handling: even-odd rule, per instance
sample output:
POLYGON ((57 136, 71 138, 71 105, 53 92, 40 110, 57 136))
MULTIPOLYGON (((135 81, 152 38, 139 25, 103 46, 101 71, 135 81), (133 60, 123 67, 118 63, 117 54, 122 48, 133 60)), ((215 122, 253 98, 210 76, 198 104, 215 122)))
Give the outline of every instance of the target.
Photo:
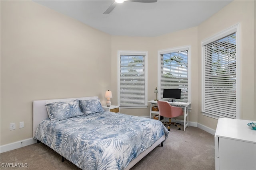
POLYGON ((202 42, 202 112, 238 118, 238 25, 202 42))

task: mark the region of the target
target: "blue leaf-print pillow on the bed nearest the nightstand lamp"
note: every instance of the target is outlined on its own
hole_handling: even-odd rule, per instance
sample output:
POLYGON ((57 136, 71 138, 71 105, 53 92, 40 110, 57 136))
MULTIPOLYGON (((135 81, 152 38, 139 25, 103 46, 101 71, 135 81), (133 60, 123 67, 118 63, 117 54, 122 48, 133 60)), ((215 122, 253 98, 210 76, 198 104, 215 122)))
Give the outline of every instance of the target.
POLYGON ((89 115, 91 113, 98 113, 104 111, 100 104, 100 99, 96 100, 80 100, 79 106, 84 113, 84 116, 89 115))

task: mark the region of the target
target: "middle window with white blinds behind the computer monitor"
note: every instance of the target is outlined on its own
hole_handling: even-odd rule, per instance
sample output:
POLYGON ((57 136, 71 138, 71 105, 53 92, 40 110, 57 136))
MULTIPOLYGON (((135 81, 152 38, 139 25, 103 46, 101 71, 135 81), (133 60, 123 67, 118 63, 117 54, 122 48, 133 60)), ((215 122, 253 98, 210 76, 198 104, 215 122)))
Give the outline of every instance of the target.
POLYGON ((181 89, 181 99, 190 101, 190 46, 158 51, 158 88, 160 99, 164 88, 181 89))

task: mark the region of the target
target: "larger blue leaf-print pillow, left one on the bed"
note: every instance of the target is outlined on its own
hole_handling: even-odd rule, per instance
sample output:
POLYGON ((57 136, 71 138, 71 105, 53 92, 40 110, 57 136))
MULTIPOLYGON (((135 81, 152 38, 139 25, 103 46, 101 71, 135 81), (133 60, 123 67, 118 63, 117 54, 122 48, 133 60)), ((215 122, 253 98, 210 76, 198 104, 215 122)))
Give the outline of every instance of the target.
POLYGON ((54 102, 46 104, 48 115, 52 121, 60 121, 83 115, 79 107, 79 100, 72 100, 69 102, 54 102))

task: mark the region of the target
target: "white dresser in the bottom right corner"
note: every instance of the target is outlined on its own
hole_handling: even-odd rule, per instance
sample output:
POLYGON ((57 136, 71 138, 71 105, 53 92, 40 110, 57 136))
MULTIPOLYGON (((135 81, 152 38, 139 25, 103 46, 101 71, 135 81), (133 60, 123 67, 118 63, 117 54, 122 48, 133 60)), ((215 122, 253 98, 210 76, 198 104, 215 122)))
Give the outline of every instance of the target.
POLYGON ((220 118, 215 133, 216 170, 256 170, 256 121, 220 118))

